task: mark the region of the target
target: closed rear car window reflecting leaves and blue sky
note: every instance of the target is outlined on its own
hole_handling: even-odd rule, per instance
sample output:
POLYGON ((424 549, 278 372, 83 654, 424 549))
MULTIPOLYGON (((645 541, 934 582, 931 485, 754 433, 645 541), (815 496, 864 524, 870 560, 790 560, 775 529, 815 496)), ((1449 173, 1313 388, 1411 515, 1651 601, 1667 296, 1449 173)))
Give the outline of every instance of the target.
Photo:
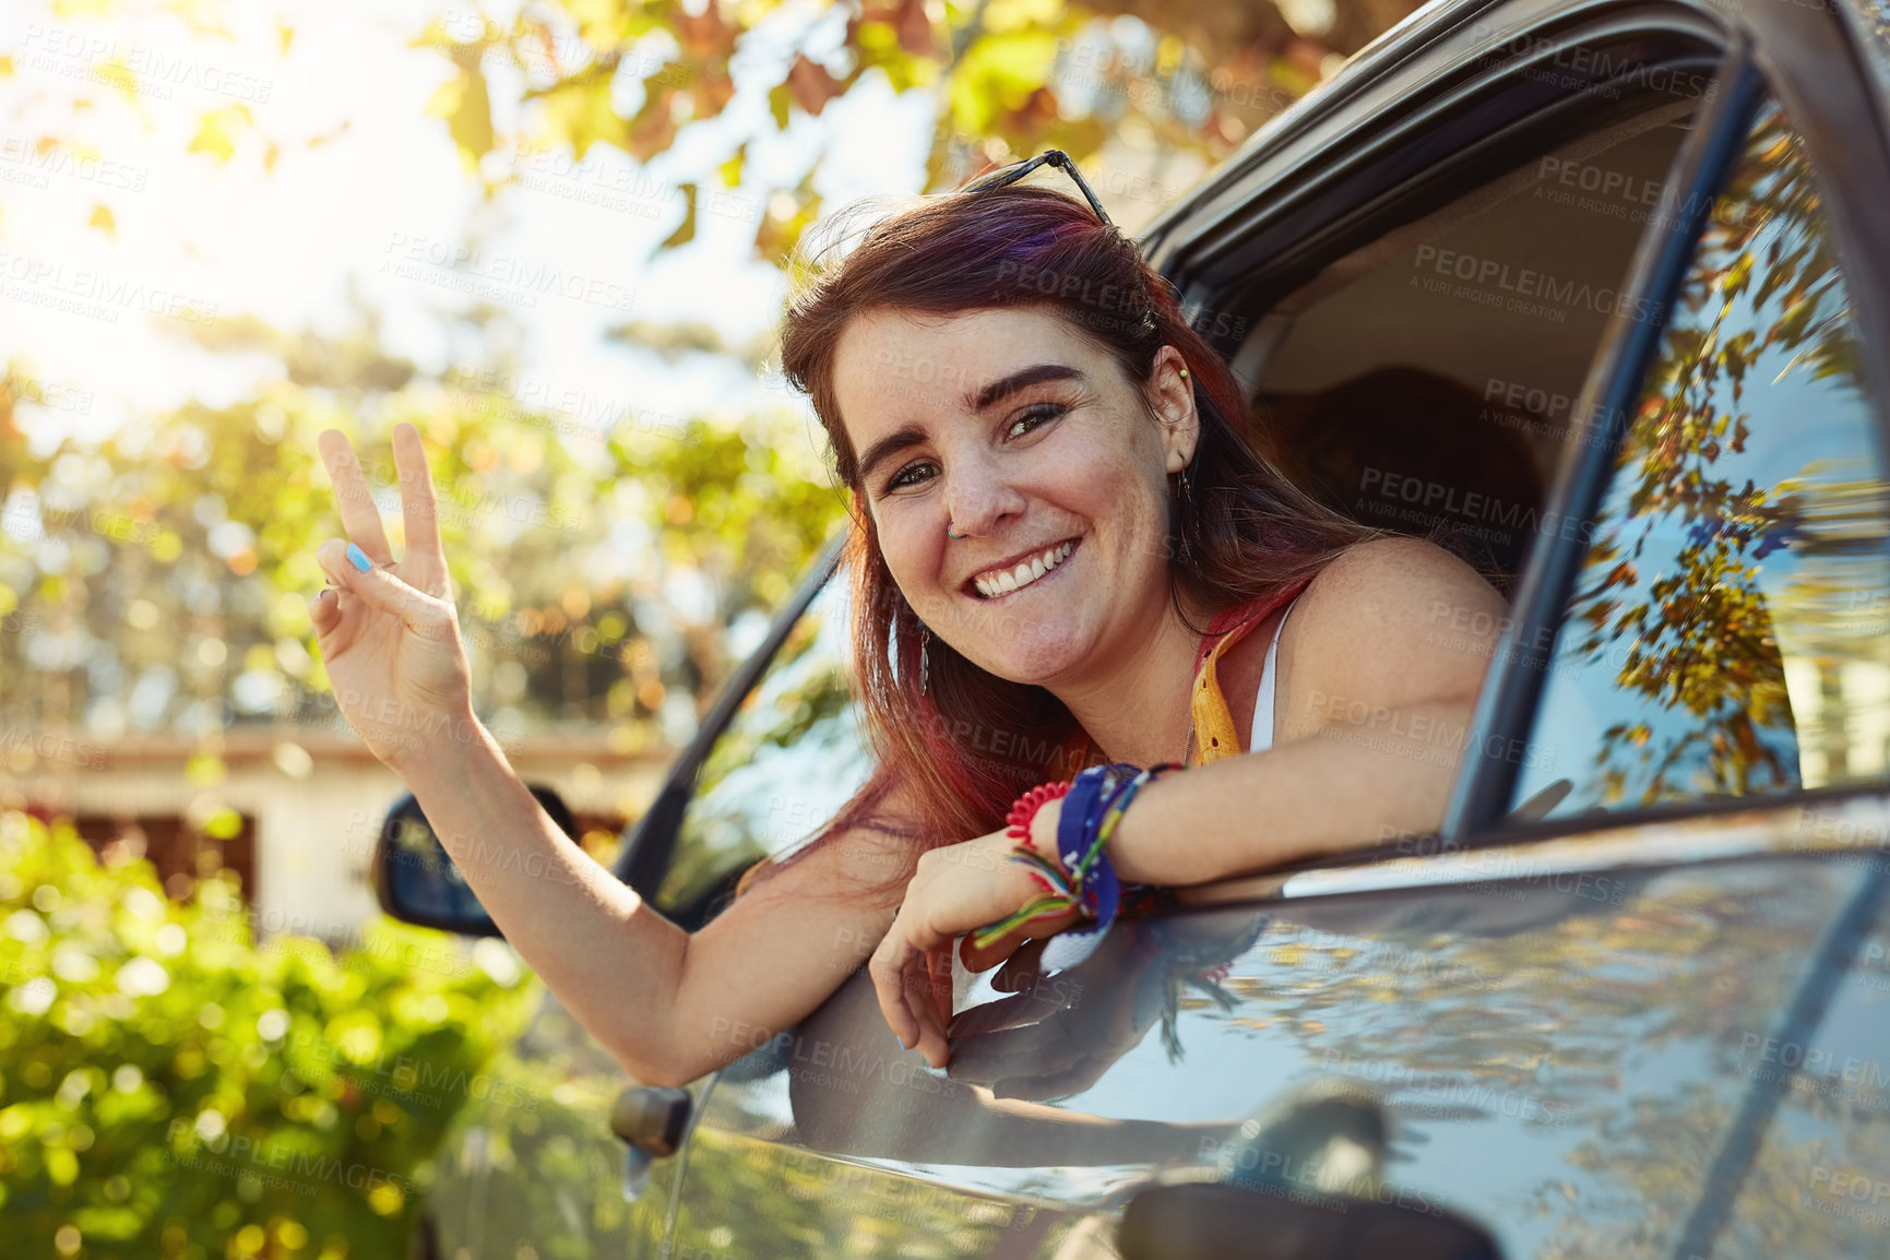
POLYGON ((1765 104, 1593 521, 1516 801, 1555 814, 1877 778, 1890 501, 1816 181, 1765 104))

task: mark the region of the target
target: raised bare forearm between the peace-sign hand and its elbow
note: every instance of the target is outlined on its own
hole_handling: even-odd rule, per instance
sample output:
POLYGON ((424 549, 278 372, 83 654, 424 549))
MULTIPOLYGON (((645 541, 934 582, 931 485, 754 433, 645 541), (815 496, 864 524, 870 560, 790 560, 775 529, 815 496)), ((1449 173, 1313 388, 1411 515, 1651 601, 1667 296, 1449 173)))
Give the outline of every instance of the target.
POLYGON ((688 933, 567 837, 484 725, 406 771, 427 822, 505 939, 639 1081, 675 1075, 669 1011, 688 933))

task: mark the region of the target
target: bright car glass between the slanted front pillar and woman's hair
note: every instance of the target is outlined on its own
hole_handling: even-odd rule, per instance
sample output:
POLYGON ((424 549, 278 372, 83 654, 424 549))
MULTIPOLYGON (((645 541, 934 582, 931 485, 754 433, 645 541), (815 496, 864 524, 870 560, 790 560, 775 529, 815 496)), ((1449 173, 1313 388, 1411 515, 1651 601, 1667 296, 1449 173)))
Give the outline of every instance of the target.
POLYGON ((850 582, 839 569, 716 737, 654 905, 697 905, 762 858, 809 839, 873 769, 847 682, 850 582))

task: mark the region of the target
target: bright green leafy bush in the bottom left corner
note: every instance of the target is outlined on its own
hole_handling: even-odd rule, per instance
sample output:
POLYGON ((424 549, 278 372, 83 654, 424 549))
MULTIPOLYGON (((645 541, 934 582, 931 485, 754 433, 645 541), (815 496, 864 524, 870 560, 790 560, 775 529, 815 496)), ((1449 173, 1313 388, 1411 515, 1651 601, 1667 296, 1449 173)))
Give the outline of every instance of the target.
POLYGON ((0 814, 6 1254, 404 1256, 520 977, 499 943, 391 920, 342 958, 257 948, 225 878, 180 905, 147 861, 0 814))

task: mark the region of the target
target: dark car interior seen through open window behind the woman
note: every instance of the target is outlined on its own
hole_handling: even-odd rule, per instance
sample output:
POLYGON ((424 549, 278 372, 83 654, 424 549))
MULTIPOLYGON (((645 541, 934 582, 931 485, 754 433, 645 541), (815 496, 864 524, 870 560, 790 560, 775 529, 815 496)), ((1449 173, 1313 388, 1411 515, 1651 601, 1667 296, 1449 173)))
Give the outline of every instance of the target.
POLYGON ((1559 142, 1274 302, 1234 355, 1263 451, 1510 595, 1695 113, 1663 96, 1559 142))

